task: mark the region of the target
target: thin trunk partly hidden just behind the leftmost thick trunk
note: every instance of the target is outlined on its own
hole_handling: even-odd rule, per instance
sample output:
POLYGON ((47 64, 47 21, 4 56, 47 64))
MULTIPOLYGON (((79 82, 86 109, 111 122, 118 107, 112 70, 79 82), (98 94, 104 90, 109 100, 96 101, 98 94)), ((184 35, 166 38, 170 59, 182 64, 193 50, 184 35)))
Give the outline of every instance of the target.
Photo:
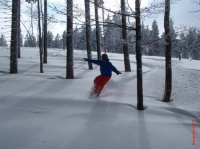
POLYGON ((18 3, 18 11, 19 11, 19 15, 18 15, 18 58, 21 57, 21 43, 20 43, 20 39, 21 39, 21 28, 20 28, 20 19, 21 19, 21 0, 19 0, 18 3))

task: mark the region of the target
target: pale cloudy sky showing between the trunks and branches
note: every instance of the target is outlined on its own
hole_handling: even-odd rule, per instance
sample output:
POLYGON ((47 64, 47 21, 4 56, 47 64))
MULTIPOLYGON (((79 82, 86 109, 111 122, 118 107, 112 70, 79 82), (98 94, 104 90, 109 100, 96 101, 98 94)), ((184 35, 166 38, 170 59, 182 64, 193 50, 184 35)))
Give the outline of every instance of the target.
MULTIPOLYGON (((130 6, 134 9, 134 0, 127 0, 130 4, 130 6)), ((149 2, 151 2, 153 0, 141 0, 141 7, 145 7, 148 6, 149 2)), ((181 0, 179 2, 177 2, 176 4, 173 4, 171 6, 172 10, 171 10, 171 18, 174 21, 174 25, 175 26, 179 26, 179 25, 188 25, 188 26, 195 26, 195 27, 199 27, 200 24, 200 12, 197 13, 191 13, 192 11, 195 10, 200 10, 200 5, 192 3, 192 0, 181 0)), ((62 6, 65 6, 65 0, 48 0, 49 4, 61 4, 62 6)), ((74 0, 74 3, 77 4, 79 7, 84 9, 84 0, 74 0)), ((25 11, 26 5, 27 3, 22 2, 22 11, 25 11)), ((109 8, 111 10, 117 10, 119 9, 119 5, 120 5, 120 0, 104 0, 104 7, 109 8)), ((91 4, 91 6, 93 6, 91 4)), ((9 41, 9 33, 10 33, 10 22, 4 22, 7 21, 8 19, 5 19, 5 14, 3 14, 3 12, 5 12, 2 8, 0 8, 0 34, 4 34, 7 37, 7 40, 9 41)), ((91 13, 93 13, 93 7, 91 7, 91 13)), ((49 9, 49 13, 50 9, 49 9)), ((99 14, 101 14, 101 10, 99 10, 99 14)), ((112 14, 111 14, 112 15, 112 14)), ((60 15, 56 15, 56 18, 60 18, 61 20, 65 20, 65 16, 60 16, 60 15)), ((22 19, 24 21, 30 20, 30 18, 28 16, 26 16, 25 14, 22 13, 22 19)), ((153 20, 156 20, 158 22, 158 26, 159 26, 159 30, 160 30, 160 34, 162 34, 162 32, 164 31, 164 26, 163 26, 163 20, 164 20, 164 15, 160 14, 158 16, 154 16, 151 18, 146 18, 144 21, 145 25, 149 25, 149 28, 151 28, 151 24, 153 22, 153 20)), ((25 23, 26 24, 26 23, 25 23)), ((30 28, 28 24, 26 24, 27 28, 30 28)), ((36 27, 35 27, 36 28, 36 27)), ((59 33, 60 35, 62 35, 62 32, 65 30, 66 25, 64 23, 59 23, 59 24, 54 24, 51 25, 48 30, 51 30, 54 34, 54 36, 59 33)), ((22 31, 23 34, 26 34, 26 30, 25 28, 22 26, 22 31)))

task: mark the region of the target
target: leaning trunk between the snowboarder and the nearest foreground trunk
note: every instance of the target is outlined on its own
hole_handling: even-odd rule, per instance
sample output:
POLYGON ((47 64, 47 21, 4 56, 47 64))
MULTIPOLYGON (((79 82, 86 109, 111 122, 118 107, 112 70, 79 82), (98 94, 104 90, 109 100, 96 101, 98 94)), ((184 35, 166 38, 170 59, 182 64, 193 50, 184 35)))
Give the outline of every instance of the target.
POLYGON ((130 72, 131 66, 129 59, 128 44, 127 44, 125 0, 121 0, 121 12, 122 12, 122 38, 123 38, 124 65, 125 65, 125 71, 130 72))

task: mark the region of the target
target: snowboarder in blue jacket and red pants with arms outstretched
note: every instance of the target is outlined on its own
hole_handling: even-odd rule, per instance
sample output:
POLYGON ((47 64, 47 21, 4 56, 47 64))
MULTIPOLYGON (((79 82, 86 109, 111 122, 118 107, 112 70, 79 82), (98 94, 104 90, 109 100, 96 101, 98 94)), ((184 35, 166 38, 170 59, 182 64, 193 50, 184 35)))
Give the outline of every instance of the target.
POLYGON ((117 75, 122 74, 112 65, 111 62, 109 62, 107 54, 102 54, 101 56, 102 60, 92 60, 92 59, 87 59, 87 58, 83 58, 83 59, 85 61, 88 61, 100 66, 101 75, 97 76, 94 79, 94 88, 92 91, 94 92, 94 94, 96 94, 96 96, 100 95, 102 89, 104 88, 106 83, 110 80, 112 76, 112 71, 115 72, 117 75))

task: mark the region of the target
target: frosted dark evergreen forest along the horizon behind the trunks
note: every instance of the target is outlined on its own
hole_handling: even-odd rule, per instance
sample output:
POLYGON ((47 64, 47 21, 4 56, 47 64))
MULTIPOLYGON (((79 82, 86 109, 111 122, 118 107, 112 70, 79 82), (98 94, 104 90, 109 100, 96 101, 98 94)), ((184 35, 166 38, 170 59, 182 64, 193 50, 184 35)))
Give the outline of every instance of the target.
MULTIPOLYGON (((106 21, 120 24, 120 16, 113 15, 107 16, 106 21)), ((200 30, 195 27, 189 28, 184 33, 179 35, 175 31, 173 26, 173 20, 170 19, 171 24, 171 38, 172 38, 172 57, 177 57, 181 53, 182 58, 194 60, 200 60, 200 30)), ((135 24, 133 24, 135 25, 135 24)), ((101 28, 102 31, 102 28, 101 28)), ((122 48, 122 29, 114 27, 110 24, 105 26, 105 48, 107 52, 111 53, 123 53, 122 48)), ((159 36, 159 28, 156 20, 152 22, 152 26, 145 26, 141 24, 142 34, 142 54, 149 56, 165 56, 165 38, 164 33, 159 36)), ((86 28, 84 25, 76 27, 74 29, 74 49, 85 50, 86 49, 86 28)), ((21 38, 22 39, 22 38, 21 38)), ((103 36, 100 34, 100 39, 103 41, 103 36)), ((135 54, 135 31, 127 32, 128 47, 130 54, 135 54)), ((0 41, 5 38, 1 37, 0 41)), ((1 44, 2 42, 0 42, 1 44)), ((22 42, 21 42, 22 43, 22 42)), ((25 47, 36 47, 38 42, 36 37, 26 35, 24 40, 25 47)), ((66 49, 66 31, 62 35, 57 34, 55 37, 51 31, 47 32, 47 47, 48 48, 60 48, 66 49)), ((91 29, 91 50, 96 51, 96 28, 91 29)), ((101 42, 103 47, 103 42, 101 42)))

